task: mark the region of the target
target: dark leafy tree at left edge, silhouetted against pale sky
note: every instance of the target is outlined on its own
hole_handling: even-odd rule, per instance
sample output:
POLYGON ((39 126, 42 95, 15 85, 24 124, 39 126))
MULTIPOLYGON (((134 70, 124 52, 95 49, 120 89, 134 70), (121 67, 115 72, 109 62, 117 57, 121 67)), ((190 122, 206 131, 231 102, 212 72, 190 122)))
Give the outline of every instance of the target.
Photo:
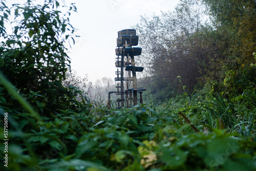
POLYGON ((61 6, 57 0, 42 5, 28 0, 11 7, 1 1, 0 71, 45 114, 56 109, 81 110, 73 100, 74 90, 62 85, 70 68, 67 42, 75 37, 69 22, 72 11, 76 12, 74 4, 61 6))

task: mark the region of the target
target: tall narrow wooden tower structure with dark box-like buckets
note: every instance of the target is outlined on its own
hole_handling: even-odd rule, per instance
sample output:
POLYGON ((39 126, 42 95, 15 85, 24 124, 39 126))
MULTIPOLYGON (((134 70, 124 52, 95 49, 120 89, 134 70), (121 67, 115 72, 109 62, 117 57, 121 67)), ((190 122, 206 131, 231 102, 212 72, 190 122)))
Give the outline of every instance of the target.
POLYGON ((118 108, 137 105, 138 93, 140 94, 140 103, 143 103, 142 92, 146 89, 137 88, 136 72, 142 72, 144 68, 135 66, 135 56, 139 56, 142 51, 141 48, 135 47, 138 42, 139 37, 136 35, 135 29, 118 31, 115 62, 117 68, 115 81, 118 83, 117 91, 109 92, 109 108, 112 93, 120 96, 117 99, 118 108), (130 88, 131 84, 132 88, 130 88))

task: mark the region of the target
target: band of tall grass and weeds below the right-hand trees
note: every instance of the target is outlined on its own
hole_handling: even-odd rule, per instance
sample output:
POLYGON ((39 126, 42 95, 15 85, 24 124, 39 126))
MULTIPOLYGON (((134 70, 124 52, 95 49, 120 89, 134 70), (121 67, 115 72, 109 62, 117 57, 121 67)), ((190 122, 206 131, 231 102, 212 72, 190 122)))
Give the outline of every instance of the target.
POLYGON ((189 105, 187 98, 187 95, 179 95, 152 109, 161 117, 171 118, 175 125, 185 124, 179 117, 179 112, 182 112, 201 131, 208 127, 209 130, 225 129, 228 133, 243 137, 256 134, 256 104, 251 100, 253 98, 234 95, 233 98, 225 99, 220 94, 194 94, 189 97, 189 105))

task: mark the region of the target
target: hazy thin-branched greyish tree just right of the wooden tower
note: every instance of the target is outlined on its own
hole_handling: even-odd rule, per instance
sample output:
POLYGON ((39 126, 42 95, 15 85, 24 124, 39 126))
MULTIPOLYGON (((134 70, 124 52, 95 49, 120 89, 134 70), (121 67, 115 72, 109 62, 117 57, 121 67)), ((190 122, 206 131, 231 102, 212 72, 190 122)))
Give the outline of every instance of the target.
POLYGON ((135 26, 143 49, 138 61, 145 67, 146 76, 151 77, 153 93, 163 99, 182 91, 177 76, 183 78, 190 92, 202 76, 198 63, 205 60, 205 50, 194 35, 200 34, 206 22, 204 10, 199 1, 183 0, 175 11, 141 17, 135 26))

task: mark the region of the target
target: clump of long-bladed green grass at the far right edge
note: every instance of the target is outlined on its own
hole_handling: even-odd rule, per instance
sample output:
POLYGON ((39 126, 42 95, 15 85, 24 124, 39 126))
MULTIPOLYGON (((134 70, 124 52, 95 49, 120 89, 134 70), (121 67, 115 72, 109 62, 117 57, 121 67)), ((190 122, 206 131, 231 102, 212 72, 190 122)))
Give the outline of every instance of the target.
POLYGON ((236 100, 228 101, 219 94, 209 95, 209 97, 210 101, 206 103, 205 107, 208 111, 207 121, 211 126, 216 126, 212 117, 220 118, 227 131, 231 133, 238 133, 245 137, 255 134, 256 105, 253 101, 246 97, 239 99, 238 96, 233 98, 236 100), (249 108, 248 103, 250 104, 249 108))

